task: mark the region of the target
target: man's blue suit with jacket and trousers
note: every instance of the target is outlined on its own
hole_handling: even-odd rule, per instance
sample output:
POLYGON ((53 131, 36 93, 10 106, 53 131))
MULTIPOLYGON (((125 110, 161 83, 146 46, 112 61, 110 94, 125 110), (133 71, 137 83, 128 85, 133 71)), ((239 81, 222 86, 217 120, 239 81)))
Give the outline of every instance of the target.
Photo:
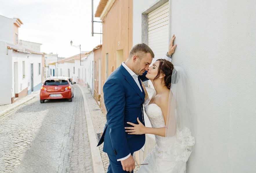
MULTIPOLYGON (((147 72, 139 76, 139 83, 148 80, 147 72)), ((107 122, 99 144, 104 142, 103 151, 108 153, 110 165, 108 172, 123 171, 121 159, 138 151, 145 144, 145 134, 128 135, 124 127, 132 127, 126 122, 138 124, 137 117, 144 123, 143 103, 145 92, 142 92, 129 72, 121 65, 110 76, 103 86, 104 102, 107 109, 107 122)))

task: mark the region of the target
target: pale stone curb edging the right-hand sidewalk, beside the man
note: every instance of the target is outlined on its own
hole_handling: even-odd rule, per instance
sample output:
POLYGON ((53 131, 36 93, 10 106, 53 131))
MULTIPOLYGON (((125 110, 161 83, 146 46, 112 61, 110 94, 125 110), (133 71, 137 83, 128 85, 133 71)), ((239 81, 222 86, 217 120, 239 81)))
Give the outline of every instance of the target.
POLYGON ((105 173, 99 148, 96 147, 98 143, 95 136, 95 131, 92 124, 91 114, 89 111, 87 100, 86 100, 85 94, 83 93, 82 87, 80 85, 77 85, 77 86, 81 90, 81 93, 83 96, 84 111, 86 115, 86 122, 87 122, 87 128, 88 128, 88 138, 89 138, 91 154, 92 154, 93 171, 94 173, 105 173))

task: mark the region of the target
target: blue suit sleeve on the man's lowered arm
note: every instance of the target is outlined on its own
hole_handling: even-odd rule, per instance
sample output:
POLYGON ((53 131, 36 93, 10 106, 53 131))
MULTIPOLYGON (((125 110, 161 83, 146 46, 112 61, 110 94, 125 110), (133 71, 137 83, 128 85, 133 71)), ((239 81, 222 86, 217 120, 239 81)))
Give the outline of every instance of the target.
POLYGON ((117 159, 120 159, 130 154, 124 129, 124 88, 121 82, 112 78, 104 84, 103 93, 113 154, 116 155, 117 159))

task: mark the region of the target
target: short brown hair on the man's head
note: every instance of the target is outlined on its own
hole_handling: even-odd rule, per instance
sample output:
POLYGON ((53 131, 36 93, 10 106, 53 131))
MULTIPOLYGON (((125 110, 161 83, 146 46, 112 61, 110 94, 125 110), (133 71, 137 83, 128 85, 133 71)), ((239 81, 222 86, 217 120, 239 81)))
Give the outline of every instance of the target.
MULTIPOLYGON (((130 54, 129 54, 129 58, 133 57, 135 54, 138 54, 138 56, 139 56, 143 53, 150 53, 152 58, 155 57, 155 54, 153 53, 152 49, 150 49, 150 47, 148 45, 146 45, 145 43, 141 43, 141 44, 136 44, 135 46, 132 47, 130 54)), ((139 56, 139 59, 140 58, 141 58, 141 56, 139 56)))

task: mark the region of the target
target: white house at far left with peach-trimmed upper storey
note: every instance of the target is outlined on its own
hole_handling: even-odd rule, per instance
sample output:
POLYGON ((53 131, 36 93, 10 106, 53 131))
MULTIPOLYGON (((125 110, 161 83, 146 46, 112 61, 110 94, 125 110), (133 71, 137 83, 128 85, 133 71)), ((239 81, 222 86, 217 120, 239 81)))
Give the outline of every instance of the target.
POLYGON ((43 53, 41 44, 19 40, 20 19, 0 15, 0 24, 0 73, 4 81, 0 105, 4 105, 40 89, 43 53))

